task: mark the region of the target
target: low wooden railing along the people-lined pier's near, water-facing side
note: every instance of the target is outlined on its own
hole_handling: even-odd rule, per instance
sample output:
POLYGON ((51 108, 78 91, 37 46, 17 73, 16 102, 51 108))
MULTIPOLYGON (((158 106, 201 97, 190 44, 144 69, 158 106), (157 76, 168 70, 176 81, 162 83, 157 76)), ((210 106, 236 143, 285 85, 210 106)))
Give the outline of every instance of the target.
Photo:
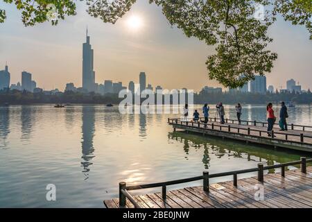
MULTIPOLYGON (((196 127, 196 128, 197 127, 202 128, 201 126, 203 126, 203 128, 209 128, 210 127, 210 130, 218 130, 218 131, 222 131, 222 132, 225 132, 223 130, 223 128, 227 128, 227 133, 235 133, 233 130, 237 130, 236 133, 241 133, 242 131, 245 131, 245 132, 247 132, 247 134, 245 134, 245 135, 251 135, 254 137, 262 137, 263 133, 268 133, 267 130, 259 130, 259 129, 250 128, 250 127, 241 128, 239 126, 230 126, 230 125, 225 125, 225 124, 216 125, 214 123, 182 121, 181 119, 169 119, 168 118, 168 123, 179 124, 180 126, 196 127), (259 136, 252 135, 251 134, 252 132, 259 133, 259 136)), ((271 135, 272 139, 277 139, 277 138, 275 138, 275 135, 284 135, 285 139, 277 139, 277 140, 286 141, 286 142, 295 142, 295 143, 300 143, 300 144, 304 143, 304 138, 312 138, 312 135, 305 135, 304 133, 295 134, 295 133, 285 133, 283 131, 275 132, 275 130, 270 131, 270 135, 271 135), (298 137, 298 141, 289 139, 288 137, 290 137, 290 136, 298 137)))

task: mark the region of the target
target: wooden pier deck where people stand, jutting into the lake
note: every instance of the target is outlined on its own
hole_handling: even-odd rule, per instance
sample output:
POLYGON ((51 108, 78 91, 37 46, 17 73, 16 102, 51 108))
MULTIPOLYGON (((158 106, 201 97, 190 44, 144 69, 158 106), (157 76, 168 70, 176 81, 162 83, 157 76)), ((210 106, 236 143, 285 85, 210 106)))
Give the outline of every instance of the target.
POLYGON ((220 124, 218 121, 209 121, 205 126, 204 123, 186 122, 178 119, 168 119, 168 124, 173 126, 174 130, 180 129, 202 135, 212 135, 268 146, 312 152, 311 130, 288 129, 288 131, 280 131, 279 128, 275 127, 273 128, 274 137, 268 137, 266 126, 239 125, 237 123, 220 124))

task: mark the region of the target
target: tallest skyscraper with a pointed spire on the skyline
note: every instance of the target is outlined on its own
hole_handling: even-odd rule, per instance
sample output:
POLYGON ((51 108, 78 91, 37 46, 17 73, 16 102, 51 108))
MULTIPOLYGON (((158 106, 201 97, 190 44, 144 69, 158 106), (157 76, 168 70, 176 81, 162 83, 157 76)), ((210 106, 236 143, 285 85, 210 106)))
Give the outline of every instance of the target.
POLYGON ((83 88, 95 92, 95 72, 93 70, 93 49, 87 28, 87 42, 83 44, 83 88))

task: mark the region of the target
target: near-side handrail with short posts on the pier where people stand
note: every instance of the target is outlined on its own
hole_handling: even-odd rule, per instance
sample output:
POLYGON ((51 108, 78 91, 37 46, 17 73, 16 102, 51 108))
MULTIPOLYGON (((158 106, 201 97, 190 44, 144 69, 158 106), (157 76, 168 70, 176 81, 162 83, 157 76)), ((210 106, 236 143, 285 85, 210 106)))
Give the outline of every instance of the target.
MULTIPOLYGON (((216 127, 220 128, 219 131, 223 131, 222 128, 228 128, 228 132, 231 132, 231 129, 237 129, 238 133, 239 130, 245 130, 248 131, 248 135, 250 135, 250 132, 257 132, 260 134, 261 137, 261 133, 268 133, 267 130, 258 130, 258 129, 253 129, 253 128, 241 128, 238 126, 230 126, 230 125, 215 125, 214 123, 201 123, 201 122, 193 122, 193 121, 182 121, 181 119, 170 119, 168 118, 168 123, 173 123, 173 124, 178 124, 180 123, 181 126, 184 126, 183 123, 185 123, 185 126, 189 126, 189 127, 196 127, 195 125, 198 125, 198 127, 200 128, 200 126, 205 126, 205 128, 207 128, 207 126, 211 126, 211 130, 216 130, 216 127)), ((225 132, 225 131, 223 131, 225 132)), ((300 144, 304 144, 304 137, 306 138, 312 138, 312 135, 304 135, 304 133, 300 133, 300 134, 294 134, 294 133, 285 133, 285 132, 275 132, 274 130, 272 130, 272 132, 270 132, 272 135, 271 139, 275 139, 275 135, 285 135, 285 139, 275 139, 275 140, 283 140, 283 141, 288 141, 288 142, 295 142, 295 143, 300 143, 300 144), (290 140, 288 139, 288 136, 293 136, 293 137, 300 137, 300 142, 295 141, 295 140, 290 140)), ((258 137, 257 135, 250 135, 253 137, 258 137)))

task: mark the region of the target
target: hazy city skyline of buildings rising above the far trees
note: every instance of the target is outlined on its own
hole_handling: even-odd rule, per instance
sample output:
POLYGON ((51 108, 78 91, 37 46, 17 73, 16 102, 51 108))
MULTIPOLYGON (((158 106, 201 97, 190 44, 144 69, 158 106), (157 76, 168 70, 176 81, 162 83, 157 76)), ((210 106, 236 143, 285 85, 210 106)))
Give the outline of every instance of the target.
MULTIPOLYGON (((53 89, 50 91, 44 91, 44 89, 37 87, 37 83, 32 79, 32 74, 28 71, 21 72, 21 83, 10 85, 10 72, 8 71, 8 65, 6 64, 5 69, 0 71, 0 90, 2 89, 17 89, 19 91, 34 92, 34 93, 44 93, 44 94, 59 94, 62 93, 58 89, 53 89)), ((65 92, 81 92, 88 93, 94 92, 97 94, 118 94, 121 90, 127 89, 123 86, 123 83, 117 82, 113 83, 112 80, 104 80, 103 83, 95 82, 95 71, 94 71, 94 49, 90 44, 90 37, 88 31, 86 34, 86 42, 83 43, 83 86, 76 87, 73 83, 67 83, 64 89, 65 92)), ((139 74, 139 85, 136 85, 134 81, 128 83, 128 90, 134 94, 135 92, 143 92, 145 89, 150 89, 153 92, 153 86, 151 84, 146 84, 146 73, 142 71, 139 74)), ((186 89, 187 91, 187 89, 186 89)), ((157 85, 155 87, 156 92, 162 92, 162 87, 157 85)), ((208 87, 202 88, 201 92, 205 93, 222 93, 223 89, 221 87, 208 87)), ((253 94, 266 94, 275 93, 275 89, 272 85, 267 88, 266 76, 255 76, 254 80, 249 81, 243 87, 240 88, 229 88, 229 93, 235 92, 250 92, 253 94)), ((295 92, 302 93, 299 83, 296 85, 295 80, 291 79, 286 82, 286 89, 280 89, 279 92, 295 92)))

